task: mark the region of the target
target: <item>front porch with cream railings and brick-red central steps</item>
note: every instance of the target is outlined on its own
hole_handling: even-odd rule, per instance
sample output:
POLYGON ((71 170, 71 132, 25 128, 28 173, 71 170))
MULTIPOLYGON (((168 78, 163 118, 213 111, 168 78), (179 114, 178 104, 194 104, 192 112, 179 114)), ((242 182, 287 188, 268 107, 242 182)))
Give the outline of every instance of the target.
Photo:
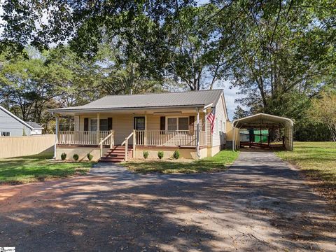
POLYGON ((133 130, 118 144, 115 144, 115 135, 114 130, 59 131, 57 148, 59 151, 68 152, 69 158, 77 151, 79 154, 76 154, 80 155, 81 160, 85 159, 87 153, 94 153, 99 155, 100 160, 120 162, 130 158, 141 158, 144 151, 149 151, 151 157, 155 155, 154 151, 165 151, 168 158, 176 149, 181 149, 185 158, 197 158, 197 146, 207 146, 206 132, 201 130, 198 134, 197 131, 188 130, 133 130))

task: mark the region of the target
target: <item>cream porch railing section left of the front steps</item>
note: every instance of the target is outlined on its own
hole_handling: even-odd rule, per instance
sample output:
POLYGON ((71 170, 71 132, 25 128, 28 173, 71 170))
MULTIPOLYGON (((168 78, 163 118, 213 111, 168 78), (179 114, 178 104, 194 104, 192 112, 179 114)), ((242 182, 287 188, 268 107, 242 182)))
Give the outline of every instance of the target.
MULTIPOLYGON (((100 139, 106 138, 111 131, 59 131, 57 144, 98 145, 100 139)), ((106 139, 104 144, 110 145, 111 138, 106 139)))

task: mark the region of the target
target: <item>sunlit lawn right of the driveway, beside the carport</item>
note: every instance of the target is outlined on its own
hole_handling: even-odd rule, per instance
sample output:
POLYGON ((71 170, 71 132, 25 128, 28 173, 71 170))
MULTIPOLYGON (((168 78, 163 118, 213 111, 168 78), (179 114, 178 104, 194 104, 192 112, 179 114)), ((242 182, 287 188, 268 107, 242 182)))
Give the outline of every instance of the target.
POLYGON ((336 200, 335 142, 295 142, 294 151, 279 151, 276 155, 300 167, 309 179, 320 182, 318 190, 336 200))

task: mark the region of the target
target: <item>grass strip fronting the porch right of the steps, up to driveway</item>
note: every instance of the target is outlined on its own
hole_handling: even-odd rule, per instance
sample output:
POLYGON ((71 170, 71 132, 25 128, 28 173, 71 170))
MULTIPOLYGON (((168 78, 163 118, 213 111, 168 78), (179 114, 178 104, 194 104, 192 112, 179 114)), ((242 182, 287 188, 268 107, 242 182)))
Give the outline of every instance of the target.
POLYGON ((162 174, 195 173, 195 172, 219 172, 223 171, 236 160, 237 151, 221 151, 211 158, 203 158, 193 162, 181 162, 176 160, 145 160, 144 162, 125 162, 123 165, 133 172, 162 174))

